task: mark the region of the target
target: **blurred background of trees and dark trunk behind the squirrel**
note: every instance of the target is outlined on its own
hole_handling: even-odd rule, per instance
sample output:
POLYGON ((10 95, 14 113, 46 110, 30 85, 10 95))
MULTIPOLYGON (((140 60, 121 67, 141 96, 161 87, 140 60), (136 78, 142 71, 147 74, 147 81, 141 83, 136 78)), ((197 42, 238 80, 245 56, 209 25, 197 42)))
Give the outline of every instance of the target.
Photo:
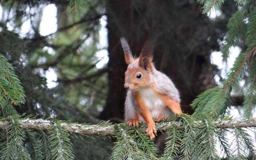
MULTIPOLYGON (((196 0, 1 0, 0 5, 0 51, 16 67, 26 94, 18 112, 91 124, 122 122, 122 36, 137 56, 146 40, 156 42, 156 68, 172 78, 182 109, 192 114, 192 100, 222 83, 211 56, 220 51, 228 19, 239 7, 226 0, 211 17, 196 0), (56 8, 56 30, 44 34, 42 27, 50 30, 48 19, 54 16, 42 22, 48 6, 56 8), (104 28, 108 37, 102 43, 104 28)), ((245 48, 243 41, 237 46, 245 48)), ((241 87, 234 106, 242 104, 241 87)), ((108 159, 112 140, 102 139, 72 138, 76 159, 108 159)))

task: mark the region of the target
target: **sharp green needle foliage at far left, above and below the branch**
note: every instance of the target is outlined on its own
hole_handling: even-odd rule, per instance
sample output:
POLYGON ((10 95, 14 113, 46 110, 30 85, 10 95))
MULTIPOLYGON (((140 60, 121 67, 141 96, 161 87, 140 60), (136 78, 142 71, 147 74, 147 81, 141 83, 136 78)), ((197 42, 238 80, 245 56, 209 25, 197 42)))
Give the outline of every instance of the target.
MULTIPOLYGON (((8 122, 8 129, 0 134, 1 160, 72 160, 72 146, 69 133, 55 120, 46 134, 39 128, 27 130, 20 124, 21 116, 14 106, 24 102, 24 91, 14 69, 0 54, 0 116, 8 122), (47 136, 49 135, 49 136, 47 136), (30 144, 24 144, 25 139, 30 144), (50 150, 50 152, 49 152, 50 150)), ((30 118, 30 117, 25 117, 30 118)))

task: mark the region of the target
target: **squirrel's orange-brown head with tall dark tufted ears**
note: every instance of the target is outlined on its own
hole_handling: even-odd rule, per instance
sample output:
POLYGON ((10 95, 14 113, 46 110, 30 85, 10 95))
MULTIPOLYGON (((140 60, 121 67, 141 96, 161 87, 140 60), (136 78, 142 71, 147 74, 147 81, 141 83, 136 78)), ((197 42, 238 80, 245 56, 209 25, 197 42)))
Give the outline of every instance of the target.
POLYGON ((124 38, 120 39, 125 62, 128 64, 125 72, 124 88, 128 90, 138 90, 140 88, 150 87, 150 74, 154 72, 153 60, 153 44, 146 42, 139 58, 134 58, 127 41, 124 38))

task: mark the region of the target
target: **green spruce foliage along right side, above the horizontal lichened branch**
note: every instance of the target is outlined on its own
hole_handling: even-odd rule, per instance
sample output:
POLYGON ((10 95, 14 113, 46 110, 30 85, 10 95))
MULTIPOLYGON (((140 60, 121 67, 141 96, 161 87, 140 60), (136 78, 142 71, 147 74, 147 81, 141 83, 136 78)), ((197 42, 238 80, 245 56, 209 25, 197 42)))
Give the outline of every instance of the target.
MULTIPOLYGON (((222 0, 200 0, 204 5, 204 12, 209 8, 220 7, 222 0)), ((252 117, 256 105, 255 95, 255 53, 256 53, 256 8, 254 0, 235 1, 238 10, 228 21, 228 31, 222 44, 222 57, 226 62, 230 54, 230 48, 245 43, 246 49, 236 58, 233 67, 230 69, 227 78, 222 86, 206 90, 200 94, 191 104, 195 109, 194 114, 216 113, 224 114, 227 107, 231 106, 232 87, 239 84, 241 78, 248 73, 244 94, 244 117, 252 117)))

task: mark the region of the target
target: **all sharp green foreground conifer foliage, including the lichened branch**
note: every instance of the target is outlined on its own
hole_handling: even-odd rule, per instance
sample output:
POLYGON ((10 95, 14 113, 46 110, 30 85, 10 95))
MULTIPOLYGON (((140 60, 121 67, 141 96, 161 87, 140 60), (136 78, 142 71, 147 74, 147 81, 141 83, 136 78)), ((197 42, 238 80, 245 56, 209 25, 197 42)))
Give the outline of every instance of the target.
MULTIPOLYGON (((198 2, 203 5, 203 12, 208 13, 212 8, 220 8, 224 0, 198 2)), ((82 9, 79 8, 80 3, 82 0, 71 0, 70 6, 77 12, 82 9)), ((109 122, 72 124, 19 115, 15 107, 24 103, 25 93, 14 69, 0 54, 0 122, 3 122, 0 126, 0 159, 73 160, 70 136, 86 130, 90 130, 90 134, 115 138, 113 160, 256 159, 255 144, 245 129, 256 126, 256 119, 252 118, 256 105, 256 7, 254 0, 235 0, 235 3, 238 10, 228 22, 228 32, 222 44, 223 60, 227 60, 232 46, 245 42, 246 50, 238 56, 222 86, 206 90, 194 100, 191 106, 195 113, 192 116, 172 115, 156 124, 158 131, 166 130, 168 136, 163 155, 158 154, 154 141, 146 135, 145 124, 138 128, 109 122), (230 92, 244 72, 248 73, 245 86, 248 89, 244 95, 246 119, 238 121, 225 113, 232 105, 230 92), (39 125, 30 128, 26 125, 30 120, 37 121, 39 125)))

